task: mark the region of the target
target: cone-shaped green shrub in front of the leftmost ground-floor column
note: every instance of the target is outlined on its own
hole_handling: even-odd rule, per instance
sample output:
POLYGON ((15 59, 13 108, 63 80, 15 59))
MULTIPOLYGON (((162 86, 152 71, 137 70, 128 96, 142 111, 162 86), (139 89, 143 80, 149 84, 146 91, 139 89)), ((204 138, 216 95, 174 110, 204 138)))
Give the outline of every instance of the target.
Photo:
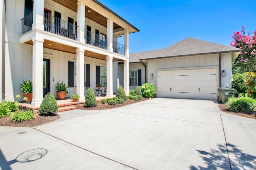
POLYGON ((52 115, 57 112, 58 108, 59 107, 54 96, 50 93, 47 93, 44 96, 38 112, 42 115, 52 115))

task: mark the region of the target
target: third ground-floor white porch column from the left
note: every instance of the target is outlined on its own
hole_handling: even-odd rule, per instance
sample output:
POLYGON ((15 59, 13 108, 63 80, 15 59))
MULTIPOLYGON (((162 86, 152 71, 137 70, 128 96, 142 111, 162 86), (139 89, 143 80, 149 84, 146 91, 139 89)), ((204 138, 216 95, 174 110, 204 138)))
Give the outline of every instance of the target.
POLYGON ((113 57, 107 56, 107 95, 106 98, 113 97, 113 57))

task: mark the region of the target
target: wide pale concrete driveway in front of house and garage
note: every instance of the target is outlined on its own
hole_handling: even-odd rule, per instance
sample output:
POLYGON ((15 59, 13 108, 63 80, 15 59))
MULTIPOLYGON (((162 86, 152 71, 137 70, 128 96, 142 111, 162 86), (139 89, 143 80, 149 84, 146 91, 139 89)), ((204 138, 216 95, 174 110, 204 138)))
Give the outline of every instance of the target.
POLYGON ((256 120, 224 113, 217 101, 154 98, 60 115, 0 127, 1 168, 256 169, 256 120))

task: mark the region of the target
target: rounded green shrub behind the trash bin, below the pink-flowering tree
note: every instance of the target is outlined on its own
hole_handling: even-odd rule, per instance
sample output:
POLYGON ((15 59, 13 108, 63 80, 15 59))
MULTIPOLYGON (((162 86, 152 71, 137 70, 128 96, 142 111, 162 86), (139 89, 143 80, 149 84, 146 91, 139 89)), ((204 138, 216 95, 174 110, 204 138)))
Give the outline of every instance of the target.
POLYGON ((247 90, 246 85, 244 84, 244 79, 246 78, 246 75, 246 73, 238 73, 232 76, 232 88, 235 89, 235 92, 244 94, 247 90))

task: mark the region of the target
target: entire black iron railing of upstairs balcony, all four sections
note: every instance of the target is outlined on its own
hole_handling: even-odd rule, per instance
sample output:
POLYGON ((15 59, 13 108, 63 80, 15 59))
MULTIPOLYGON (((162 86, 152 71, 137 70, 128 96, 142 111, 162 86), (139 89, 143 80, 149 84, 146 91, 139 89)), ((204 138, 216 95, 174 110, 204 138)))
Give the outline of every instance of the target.
MULTIPOLYGON (((22 34, 32 30, 33 13, 21 19, 22 34)), ((44 31, 76 40, 77 26, 54 16, 44 13, 44 31)), ((108 39, 91 31, 84 31, 85 43, 101 49, 107 49, 108 39)), ((113 52, 124 55, 125 46, 113 41, 113 52)))

